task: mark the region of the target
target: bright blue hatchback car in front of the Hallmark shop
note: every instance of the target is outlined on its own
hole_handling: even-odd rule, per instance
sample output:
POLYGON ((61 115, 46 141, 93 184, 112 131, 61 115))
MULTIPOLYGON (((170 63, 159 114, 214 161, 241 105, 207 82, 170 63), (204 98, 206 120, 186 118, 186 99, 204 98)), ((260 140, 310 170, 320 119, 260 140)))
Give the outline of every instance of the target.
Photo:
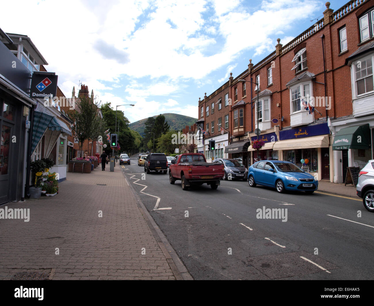
POLYGON ((312 194, 318 189, 318 180, 289 161, 263 160, 249 167, 249 186, 264 185, 282 193, 285 190, 312 194))

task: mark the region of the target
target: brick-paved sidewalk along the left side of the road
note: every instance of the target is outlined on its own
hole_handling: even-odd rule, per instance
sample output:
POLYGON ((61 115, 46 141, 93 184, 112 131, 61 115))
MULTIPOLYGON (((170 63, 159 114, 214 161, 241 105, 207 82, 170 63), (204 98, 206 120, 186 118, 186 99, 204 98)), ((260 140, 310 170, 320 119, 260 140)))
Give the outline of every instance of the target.
POLYGON ((51 273, 50 279, 181 278, 121 171, 108 170, 68 173, 55 197, 0 206, 30 208, 29 222, 0 219, 0 279, 19 272, 51 273))

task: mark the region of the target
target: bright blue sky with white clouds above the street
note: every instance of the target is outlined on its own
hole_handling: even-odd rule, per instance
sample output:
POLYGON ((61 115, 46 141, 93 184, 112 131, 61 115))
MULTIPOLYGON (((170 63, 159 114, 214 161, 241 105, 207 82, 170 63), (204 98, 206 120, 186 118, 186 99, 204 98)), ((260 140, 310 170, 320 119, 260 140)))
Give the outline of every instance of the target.
MULTIPOLYGON (((325 2, 2 1, 0 28, 31 38, 67 97, 81 82, 114 109, 135 104, 118 107, 130 122, 170 112, 197 118, 205 92, 323 18, 325 2)), ((348 1, 329 2, 337 10, 348 1)))

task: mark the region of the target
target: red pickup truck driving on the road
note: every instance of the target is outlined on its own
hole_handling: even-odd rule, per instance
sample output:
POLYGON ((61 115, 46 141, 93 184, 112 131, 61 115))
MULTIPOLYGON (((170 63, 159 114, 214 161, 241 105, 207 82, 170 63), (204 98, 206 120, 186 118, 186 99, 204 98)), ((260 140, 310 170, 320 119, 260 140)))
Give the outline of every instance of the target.
POLYGON ((181 154, 169 167, 170 183, 174 184, 176 180, 181 180, 183 190, 187 190, 193 184, 204 183, 212 189, 217 189, 224 174, 223 164, 207 163, 202 153, 181 154))

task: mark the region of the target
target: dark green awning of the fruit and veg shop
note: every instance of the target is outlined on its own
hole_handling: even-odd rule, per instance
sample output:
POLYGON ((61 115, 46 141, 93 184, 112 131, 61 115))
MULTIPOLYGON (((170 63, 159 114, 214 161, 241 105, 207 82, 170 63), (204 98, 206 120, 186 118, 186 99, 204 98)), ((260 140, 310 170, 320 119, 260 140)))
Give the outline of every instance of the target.
POLYGON ((369 149, 370 148, 369 124, 362 126, 344 127, 338 130, 332 142, 333 150, 369 149))

